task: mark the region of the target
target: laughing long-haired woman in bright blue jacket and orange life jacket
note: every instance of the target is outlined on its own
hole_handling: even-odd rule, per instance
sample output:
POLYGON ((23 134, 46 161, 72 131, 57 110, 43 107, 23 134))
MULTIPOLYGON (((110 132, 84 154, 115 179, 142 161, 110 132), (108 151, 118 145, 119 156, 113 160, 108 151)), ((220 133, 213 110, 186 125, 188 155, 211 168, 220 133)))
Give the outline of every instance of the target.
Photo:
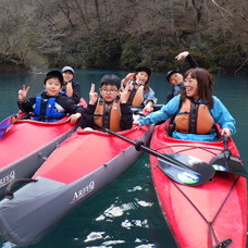
POLYGON ((235 120, 213 94, 213 76, 204 69, 190 69, 185 73, 185 89, 161 110, 141 117, 136 124, 146 125, 173 120, 172 136, 177 139, 213 141, 215 123, 222 127, 221 135, 230 137, 236 132, 235 120))

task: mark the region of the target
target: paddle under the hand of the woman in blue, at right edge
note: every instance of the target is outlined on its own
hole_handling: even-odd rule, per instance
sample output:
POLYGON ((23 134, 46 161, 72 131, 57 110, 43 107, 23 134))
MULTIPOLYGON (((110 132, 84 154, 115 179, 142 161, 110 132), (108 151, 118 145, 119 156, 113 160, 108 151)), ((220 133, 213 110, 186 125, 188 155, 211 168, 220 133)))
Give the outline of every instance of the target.
POLYGON ((240 160, 232 156, 231 150, 228 149, 228 138, 224 135, 224 150, 214 157, 210 164, 214 168, 215 171, 223 171, 233 174, 237 174, 244 177, 247 177, 246 170, 241 164, 240 160))

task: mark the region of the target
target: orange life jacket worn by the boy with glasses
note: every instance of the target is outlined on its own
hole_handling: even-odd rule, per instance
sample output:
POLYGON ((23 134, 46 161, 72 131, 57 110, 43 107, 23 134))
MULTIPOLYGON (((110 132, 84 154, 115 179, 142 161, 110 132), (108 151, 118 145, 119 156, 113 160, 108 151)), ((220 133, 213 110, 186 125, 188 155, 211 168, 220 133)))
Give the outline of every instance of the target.
POLYGON ((104 126, 113 132, 121 131, 121 107, 119 99, 115 99, 109 108, 102 98, 98 99, 98 103, 94 114, 94 123, 104 126))

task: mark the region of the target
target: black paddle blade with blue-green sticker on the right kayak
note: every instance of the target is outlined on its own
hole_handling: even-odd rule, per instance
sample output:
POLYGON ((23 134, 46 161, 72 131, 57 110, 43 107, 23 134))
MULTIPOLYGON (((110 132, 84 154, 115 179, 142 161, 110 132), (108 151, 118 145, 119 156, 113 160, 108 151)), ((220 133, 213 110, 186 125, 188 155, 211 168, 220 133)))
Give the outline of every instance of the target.
POLYGON ((195 157, 177 153, 166 153, 165 156, 171 157, 173 160, 184 164, 184 166, 182 166, 179 163, 169 161, 166 157, 165 159, 159 158, 160 169, 169 177, 179 184, 198 186, 209 182, 215 173, 211 165, 195 157))

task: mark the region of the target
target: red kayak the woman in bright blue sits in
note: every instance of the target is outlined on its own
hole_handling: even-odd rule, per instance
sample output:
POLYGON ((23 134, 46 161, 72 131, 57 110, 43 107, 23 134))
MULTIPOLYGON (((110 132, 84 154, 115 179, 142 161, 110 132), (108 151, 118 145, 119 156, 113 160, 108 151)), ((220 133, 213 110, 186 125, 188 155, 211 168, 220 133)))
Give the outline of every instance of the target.
MULTIPOLYGON (((186 159, 187 156, 191 156, 210 163, 213 158, 222 156, 224 142, 223 140, 198 142, 174 139, 166 135, 165 124, 162 124, 156 126, 150 147, 160 153, 183 154, 186 159)), ((239 153, 232 139, 228 140, 228 149, 232 158, 238 160, 239 153)), ((240 160, 239 162, 241 165, 240 160)), ((164 219, 178 247, 246 247, 247 182, 245 177, 228 172, 215 172, 212 179, 199 186, 190 186, 172 179, 161 170, 161 166, 158 166, 159 163, 157 157, 150 156, 153 186, 164 219)), ((170 170, 173 170, 173 166, 170 170)))

